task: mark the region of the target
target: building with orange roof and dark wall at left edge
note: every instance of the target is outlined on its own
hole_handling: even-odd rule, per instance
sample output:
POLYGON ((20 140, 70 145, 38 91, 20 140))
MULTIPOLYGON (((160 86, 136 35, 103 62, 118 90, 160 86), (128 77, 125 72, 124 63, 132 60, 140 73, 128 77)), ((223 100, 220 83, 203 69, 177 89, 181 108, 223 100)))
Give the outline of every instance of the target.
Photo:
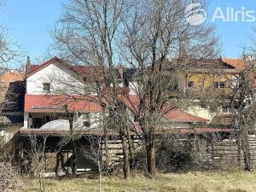
POLYGON ((2 69, 0 75, 0 138, 4 143, 23 125, 25 79, 24 73, 2 69))

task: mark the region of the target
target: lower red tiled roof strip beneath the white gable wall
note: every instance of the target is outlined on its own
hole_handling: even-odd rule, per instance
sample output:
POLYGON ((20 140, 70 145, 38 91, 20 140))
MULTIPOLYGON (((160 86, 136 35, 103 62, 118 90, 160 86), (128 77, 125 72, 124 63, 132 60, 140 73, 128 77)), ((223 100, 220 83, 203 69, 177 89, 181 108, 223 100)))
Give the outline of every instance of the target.
POLYGON ((68 110, 83 112, 102 112, 102 108, 93 102, 92 96, 56 96, 56 95, 25 95, 25 112, 65 112, 68 110))

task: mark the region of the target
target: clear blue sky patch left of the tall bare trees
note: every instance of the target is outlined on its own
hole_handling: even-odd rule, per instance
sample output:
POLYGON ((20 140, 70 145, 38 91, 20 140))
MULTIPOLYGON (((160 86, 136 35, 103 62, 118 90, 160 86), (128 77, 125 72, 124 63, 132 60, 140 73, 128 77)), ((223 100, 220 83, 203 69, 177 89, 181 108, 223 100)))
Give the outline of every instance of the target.
POLYGON ((52 41, 49 30, 61 14, 61 3, 63 0, 7 0, 0 12, 0 23, 14 33, 32 61, 36 55, 43 57, 52 41))

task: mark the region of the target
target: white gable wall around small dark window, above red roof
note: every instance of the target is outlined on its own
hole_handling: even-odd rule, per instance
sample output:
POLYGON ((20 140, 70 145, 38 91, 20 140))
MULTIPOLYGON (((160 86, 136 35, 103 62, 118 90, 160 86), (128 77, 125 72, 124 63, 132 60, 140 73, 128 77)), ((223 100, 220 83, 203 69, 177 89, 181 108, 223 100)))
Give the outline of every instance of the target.
POLYGON ((84 93, 84 84, 64 67, 50 64, 26 79, 26 94, 42 95, 43 84, 50 83, 51 94, 84 93))

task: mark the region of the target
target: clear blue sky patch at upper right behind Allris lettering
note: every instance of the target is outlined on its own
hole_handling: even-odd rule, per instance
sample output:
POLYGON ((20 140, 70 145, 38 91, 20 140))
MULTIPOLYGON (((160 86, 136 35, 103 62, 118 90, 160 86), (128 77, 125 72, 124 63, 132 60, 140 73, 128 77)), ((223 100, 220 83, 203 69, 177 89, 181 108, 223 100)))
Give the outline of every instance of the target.
MULTIPOLYGON (((224 14, 227 13, 227 8, 233 7, 234 10, 241 10, 242 7, 248 11, 255 11, 253 14, 256 18, 256 1, 255 0, 212 0, 209 4, 207 20, 211 20, 215 10, 220 7, 224 14)), ((241 56, 243 47, 250 46, 252 41, 249 37, 256 37, 253 28, 256 27, 255 22, 241 22, 241 17, 238 17, 239 22, 223 22, 218 19, 213 23, 217 26, 217 33, 223 45, 222 55, 226 57, 241 56)))

